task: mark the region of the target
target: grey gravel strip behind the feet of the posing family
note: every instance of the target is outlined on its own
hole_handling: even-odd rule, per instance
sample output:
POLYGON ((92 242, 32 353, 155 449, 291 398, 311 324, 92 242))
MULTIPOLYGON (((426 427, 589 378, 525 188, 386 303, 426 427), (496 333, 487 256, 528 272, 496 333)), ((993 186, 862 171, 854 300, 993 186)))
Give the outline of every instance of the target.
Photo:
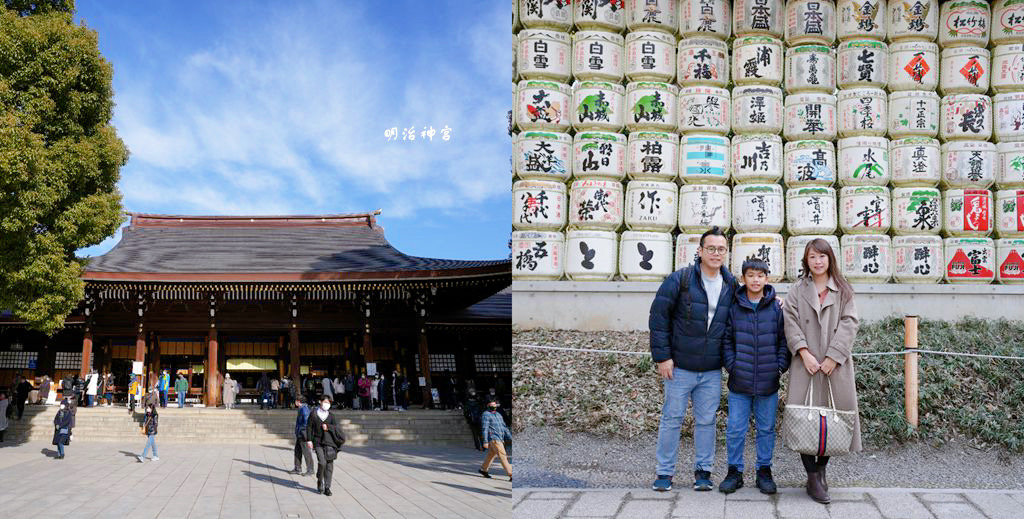
MULTIPOLYGON (((720 440, 723 440, 720 435, 720 440)), ((527 427, 516 434, 515 487, 647 487, 654 474, 656 434, 634 438, 566 433, 553 427, 527 427)), ((680 442, 677 485, 692 484, 692 433, 680 442)), ((712 479, 725 477, 725 445, 720 441, 712 479)), ((754 438, 749 435, 743 482, 755 473, 754 438)), ((775 444, 772 472, 779 486, 802 486, 806 473, 800 457, 775 444)), ((1024 489, 1024 456, 979 450, 962 442, 941 447, 906 444, 865 450, 828 464, 829 486, 1024 489)))

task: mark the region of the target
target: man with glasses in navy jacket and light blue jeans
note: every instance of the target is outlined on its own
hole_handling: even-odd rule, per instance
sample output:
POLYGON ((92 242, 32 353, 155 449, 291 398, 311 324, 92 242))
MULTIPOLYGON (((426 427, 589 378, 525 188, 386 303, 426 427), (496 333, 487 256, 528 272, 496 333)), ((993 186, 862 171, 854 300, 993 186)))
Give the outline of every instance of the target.
POLYGON ((693 401, 693 489, 711 490, 715 418, 722 397, 722 349, 736 280, 723 264, 728 242, 718 227, 700 236, 696 262, 676 270, 650 306, 650 352, 665 385, 653 489, 672 489, 679 430, 693 401))

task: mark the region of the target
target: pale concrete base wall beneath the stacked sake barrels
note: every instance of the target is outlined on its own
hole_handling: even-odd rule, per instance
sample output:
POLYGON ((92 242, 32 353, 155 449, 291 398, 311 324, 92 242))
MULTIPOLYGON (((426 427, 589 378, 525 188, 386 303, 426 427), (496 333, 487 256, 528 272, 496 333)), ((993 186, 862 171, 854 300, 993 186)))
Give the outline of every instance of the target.
MULTIPOLYGON (((785 295, 791 284, 773 285, 785 295)), ((647 330, 660 283, 513 282, 514 330, 647 330)), ((861 320, 919 315, 1024 319, 1024 286, 854 285, 861 320)))

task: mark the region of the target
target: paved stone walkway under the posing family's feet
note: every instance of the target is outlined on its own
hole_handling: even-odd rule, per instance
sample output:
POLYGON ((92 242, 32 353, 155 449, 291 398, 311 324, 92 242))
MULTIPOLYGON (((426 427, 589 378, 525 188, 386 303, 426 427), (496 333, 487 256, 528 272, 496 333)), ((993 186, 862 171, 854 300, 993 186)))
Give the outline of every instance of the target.
POLYGON ((571 518, 909 518, 996 519, 1024 517, 1024 490, 831 488, 830 505, 818 505, 803 488, 773 496, 743 487, 728 496, 689 488, 590 490, 515 488, 513 514, 528 519, 571 518))

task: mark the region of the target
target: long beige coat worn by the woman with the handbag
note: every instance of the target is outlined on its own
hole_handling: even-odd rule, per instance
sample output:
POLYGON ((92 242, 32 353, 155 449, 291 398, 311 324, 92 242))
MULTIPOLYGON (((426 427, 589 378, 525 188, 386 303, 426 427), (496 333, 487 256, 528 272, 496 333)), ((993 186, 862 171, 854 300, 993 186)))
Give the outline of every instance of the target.
MULTIPOLYGON (((857 320, 857 307, 853 298, 846 303, 840 301, 840 293, 836 283, 828 279, 828 294, 823 304, 818 304, 818 295, 814 282, 803 277, 793 284, 785 297, 783 307, 785 314, 785 339, 793 352, 793 362, 790 364, 790 384, 786 390, 785 403, 803 404, 807 397, 807 388, 811 376, 804 369, 804 360, 797 353, 801 348, 807 348, 818 362, 824 362, 825 357, 831 357, 839 363, 833 374, 833 397, 836 408, 840 410, 857 410, 857 386, 854 381, 853 339, 860 326, 857 320)), ((825 376, 821 372, 814 375, 814 392, 811 395, 811 405, 828 405, 828 387, 825 376)), ((854 421, 853 442, 851 451, 859 451, 860 416, 854 421)))

